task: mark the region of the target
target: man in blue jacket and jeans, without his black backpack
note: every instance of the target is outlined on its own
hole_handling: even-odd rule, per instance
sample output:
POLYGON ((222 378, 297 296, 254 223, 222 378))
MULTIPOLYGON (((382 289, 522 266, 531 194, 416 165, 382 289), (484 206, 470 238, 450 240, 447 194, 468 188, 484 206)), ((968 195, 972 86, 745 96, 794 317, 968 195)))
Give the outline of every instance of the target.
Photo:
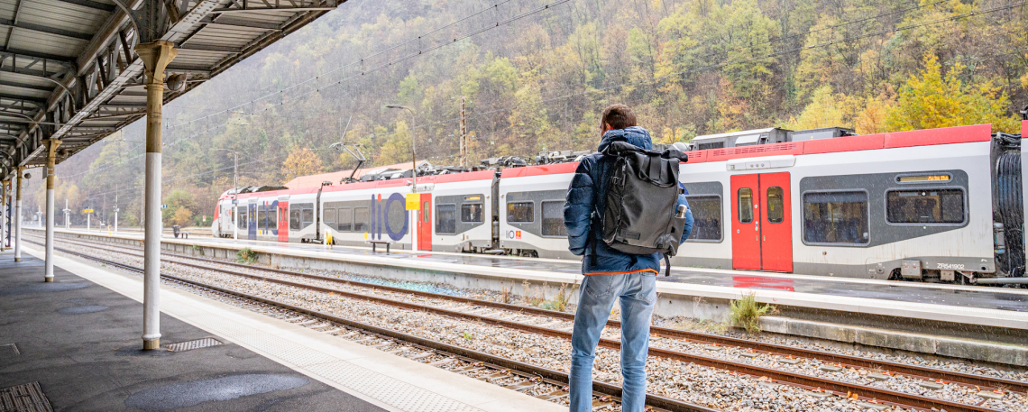
MULTIPOLYGON (((600 120, 602 152, 615 142, 652 150, 650 133, 635 125, 635 114, 625 105, 603 110, 600 120)), ((614 300, 621 302, 621 409, 641 412, 646 406, 646 360, 650 349, 650 324, 657 300, 656 275, 661 255, 631 255, 609 247, 600 238, 599 216, 605 207, 605 191, 616 158, 592 154, 579 163, 567 189, 564 226, 570 250, 583 256, 585 278, 579 289, 578 311, 572 332, 571 411, 592 410, 592 363, 599 334, 607 325, 614 300)), ((678 204, 686 205, 685 195, 678 204)), ((655 217, 656 218, 656 217, 655 217)), ((692 214, 686 213, 682 241, 692 231, 692 214)))

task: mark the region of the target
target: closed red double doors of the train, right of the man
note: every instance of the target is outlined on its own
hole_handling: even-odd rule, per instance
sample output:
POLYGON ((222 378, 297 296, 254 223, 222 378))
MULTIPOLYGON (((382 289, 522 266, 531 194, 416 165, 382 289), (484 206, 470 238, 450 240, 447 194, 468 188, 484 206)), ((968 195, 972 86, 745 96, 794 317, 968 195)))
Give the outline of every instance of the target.
POLYGON ((788 173, 732 176, 732 268, 793 271, 788 173))

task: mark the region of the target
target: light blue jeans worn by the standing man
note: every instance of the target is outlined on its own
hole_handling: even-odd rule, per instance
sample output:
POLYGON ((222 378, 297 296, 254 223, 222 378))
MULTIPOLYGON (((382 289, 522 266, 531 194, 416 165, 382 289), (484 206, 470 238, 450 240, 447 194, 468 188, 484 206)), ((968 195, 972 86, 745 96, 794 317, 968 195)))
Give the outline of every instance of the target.
POLYGON ((582 280, 572 332, 571 412, 592 411, 592 361, 615 298, 621 298, 621 410, 642 412, 656 284, 653 273, 589 274, 582 280))

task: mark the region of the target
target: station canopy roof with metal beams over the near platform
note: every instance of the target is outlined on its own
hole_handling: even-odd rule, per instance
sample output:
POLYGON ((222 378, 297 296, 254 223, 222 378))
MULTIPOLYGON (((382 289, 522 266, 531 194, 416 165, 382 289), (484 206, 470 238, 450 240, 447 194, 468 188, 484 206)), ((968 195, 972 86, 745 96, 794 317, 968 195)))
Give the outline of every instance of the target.
POLYGON ((61 162, 146 115, 128 10, 163 12, 143 37, 179 51, 166 73, 185 81, 168 103, 343 1, 0 0, 0 177, 45 164, 44 139, 61 139, 61 162))

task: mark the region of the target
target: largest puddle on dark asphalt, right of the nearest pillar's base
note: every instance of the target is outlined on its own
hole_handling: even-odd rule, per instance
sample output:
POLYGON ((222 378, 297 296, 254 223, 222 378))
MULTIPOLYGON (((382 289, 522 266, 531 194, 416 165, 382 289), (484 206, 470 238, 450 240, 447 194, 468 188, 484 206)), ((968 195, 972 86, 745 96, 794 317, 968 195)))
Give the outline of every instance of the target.
POLYGON ((218 379, 178 382, 140 390, 125 399, 125 406, 149 411, 187 408, 210 401, 230 401, 251 395, 292 389, 307 384, 296 376, 247 374, 218 379))

